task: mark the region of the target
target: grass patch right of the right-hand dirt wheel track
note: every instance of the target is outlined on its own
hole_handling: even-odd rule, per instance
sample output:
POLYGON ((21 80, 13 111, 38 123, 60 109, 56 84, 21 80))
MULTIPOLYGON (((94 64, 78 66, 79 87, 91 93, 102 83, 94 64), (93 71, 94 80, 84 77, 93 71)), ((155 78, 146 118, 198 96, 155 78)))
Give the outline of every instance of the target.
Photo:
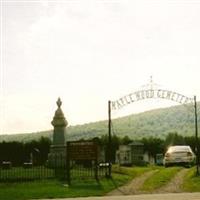
POLYGON ((196 167, 192 167, 185 176, 182 189, 186 192, 200 192, 200 176, 196 176, 196 167))

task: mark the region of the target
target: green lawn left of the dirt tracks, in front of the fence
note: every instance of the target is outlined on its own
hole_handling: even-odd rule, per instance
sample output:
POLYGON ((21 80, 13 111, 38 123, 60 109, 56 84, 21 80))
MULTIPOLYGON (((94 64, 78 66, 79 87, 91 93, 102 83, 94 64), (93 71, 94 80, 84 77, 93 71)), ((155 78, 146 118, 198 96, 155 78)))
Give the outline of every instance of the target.
POLYGON ((113 166, 112 179, 102 178, 99 182, 96 182, 95 179, 81 181, 72 180, 70 186, 67 186, 64 182, 62 183, 58 180, 51 179, 24 183, 0 183, 0 199, 25 200, 37 198, 102 196, 148 170, 151 170, 151 168, 113 166))

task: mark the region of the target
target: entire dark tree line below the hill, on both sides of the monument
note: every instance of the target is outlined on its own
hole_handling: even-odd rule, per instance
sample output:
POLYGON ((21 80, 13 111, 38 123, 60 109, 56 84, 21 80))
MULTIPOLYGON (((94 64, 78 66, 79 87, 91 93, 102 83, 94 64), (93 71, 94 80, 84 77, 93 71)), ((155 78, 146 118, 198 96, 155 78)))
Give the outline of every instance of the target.
MULTIPOLYGON (((84 139, 81 139, 84 141, 84 139)), ((127 145, 133 142, 129 136, 119 137, 112 135, 111 144, 109 144, 108 135, 95 137, 92 139, 100 147, 105 150, 105 159, 115 162, 115 154, 119 145, 127 145)), ((195 152, 196 139, 193 136, 182 136, 176 132, 169 133, 165 139, 158 137, 145 137, 137 140, 144 144, 144 151, 154 158, 156 154, 164 154, 166 149, 171 145, 189 145, 195 152)), ((0 163, 3 161, 12 162, 13 166, 21 166, 24 162, 32 161, 34 165, 43 165, 48 159, 51 140, 41 137, 40 140, 32 140, 30 142, 1 142, 0 143, 0 163)), ((200 141, 198 141, 198 145, 200 141)))

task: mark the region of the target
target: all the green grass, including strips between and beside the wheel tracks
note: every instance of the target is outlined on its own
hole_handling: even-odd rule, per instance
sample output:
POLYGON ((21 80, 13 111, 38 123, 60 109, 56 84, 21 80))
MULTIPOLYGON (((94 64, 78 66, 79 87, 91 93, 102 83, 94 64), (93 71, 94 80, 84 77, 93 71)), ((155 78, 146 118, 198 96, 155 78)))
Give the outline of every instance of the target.
MULTIPOLYGON (((112 179, 102 178, 99 182, 95 179, 72 180, 70 186, 66 182, 55 179, 37 180, 21 183, 0 183, 0 199, 2 200, 27 200, 39 198, 64 198, 102 196, 107 192, 126 184, 133 178, 151 170, 157 170, 144 182, 142 190, 152 192, 154 189, 167 184, 181 167, 119 167, 113 166, 112 179)), ((196 177, 196 168, 189 169, 183 183, 183 191, 200 192, 200 177, 196 177)))

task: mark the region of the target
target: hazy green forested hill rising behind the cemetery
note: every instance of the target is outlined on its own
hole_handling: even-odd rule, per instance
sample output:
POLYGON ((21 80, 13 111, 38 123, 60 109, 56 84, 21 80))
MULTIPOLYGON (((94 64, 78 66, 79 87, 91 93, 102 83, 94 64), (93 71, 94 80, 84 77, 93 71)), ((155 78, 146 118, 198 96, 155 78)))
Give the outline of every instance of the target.
MULTIPOLYGON (((200 103, 198 103, 200 106, 200 103)), ((198 119, 200 124, 200 117, 198 119)), ((179 105, 168 108, 155 109, 139 114, 114 119, 112 121, 112 134, 118 136, 128 135, 132 139, 156 136, 164 138, 169 132, 177 132, 184 136, 194 135, 194 111, 192 105, 179 105)), ((107 120, 83 125, 69 126, 67 128, 68 140, 89 139, 108 133, 107 120)), ((0 135, 1 141, 30 141, 41 137, 52 138, 52 130, 0 135)))

